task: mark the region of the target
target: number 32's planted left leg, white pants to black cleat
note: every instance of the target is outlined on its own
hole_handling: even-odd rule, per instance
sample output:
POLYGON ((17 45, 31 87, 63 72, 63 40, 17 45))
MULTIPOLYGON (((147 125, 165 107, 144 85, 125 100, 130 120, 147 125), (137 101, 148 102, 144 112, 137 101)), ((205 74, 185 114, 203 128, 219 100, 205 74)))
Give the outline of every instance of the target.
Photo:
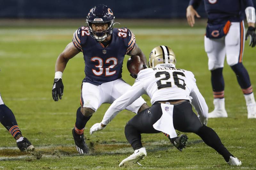
POLYGON ((93 85, 90 83, 83 83, 81 87, 80 104, 76 111, 76 123, 72 130, 75 140, 76 150, 78 153, 89 153, 89 148, 84 140, 84 128, 86 123, 92 117, 92 114, 102 104, 104 92, 100 85, 93 85))

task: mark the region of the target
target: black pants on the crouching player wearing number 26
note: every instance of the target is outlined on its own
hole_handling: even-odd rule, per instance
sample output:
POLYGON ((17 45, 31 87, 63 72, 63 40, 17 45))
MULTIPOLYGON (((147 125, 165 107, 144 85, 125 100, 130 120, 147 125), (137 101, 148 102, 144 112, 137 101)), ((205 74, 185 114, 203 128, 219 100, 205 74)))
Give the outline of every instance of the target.
MULTIPOLYGON (((124 133, 126 139, 132 145, 134 150, 142 147, 141 133, 160 132, 153 128, 153 124, 160 119, 162 114, 161 103, 155 103, 152 107, 141 111, 127 122, 124 133)), ((203 139, 205 144, 215 149, 226 161, 228 161, 231 154, 221 143, 216 132, 207 126, 202 125, 188 101, 174 105, 172 116, 174 129, 181 132, 196 133, 203 139)))

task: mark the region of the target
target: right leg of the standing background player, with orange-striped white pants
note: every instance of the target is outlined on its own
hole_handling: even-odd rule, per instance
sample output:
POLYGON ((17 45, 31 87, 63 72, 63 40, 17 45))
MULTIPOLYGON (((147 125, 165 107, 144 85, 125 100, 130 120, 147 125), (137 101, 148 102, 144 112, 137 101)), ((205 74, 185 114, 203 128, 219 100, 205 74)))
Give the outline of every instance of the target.
POLYGON ((225 38, 227 63, 236 74, 238 84, 244 93, 248 119, 256 118, 256 102, 252 92, 249 74, 242 64, 244 52, 244 22, 232 22, 225 38))

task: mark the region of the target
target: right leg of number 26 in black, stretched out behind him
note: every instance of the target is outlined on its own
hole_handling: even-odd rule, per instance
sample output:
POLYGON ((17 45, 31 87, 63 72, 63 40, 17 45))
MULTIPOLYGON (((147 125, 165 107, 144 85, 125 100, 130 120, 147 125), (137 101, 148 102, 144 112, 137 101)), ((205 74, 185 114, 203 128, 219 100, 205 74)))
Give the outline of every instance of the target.
MULTIPOLYGON (((227 148, 221 143, 220 137, 213 129, 202 125, 196 114, 193 112, 190 103, 183 102, 181 104, 174 105, 173 126, 175 129, 182 132, 193 132, 197 134, 203 139, 205 144, 220 153, 226 162, 229 162, 230 159, 237 159, 230 152, 228 152, 227 148)), ((238 163, 239 162, 240 161, 238 161, 238 163)))

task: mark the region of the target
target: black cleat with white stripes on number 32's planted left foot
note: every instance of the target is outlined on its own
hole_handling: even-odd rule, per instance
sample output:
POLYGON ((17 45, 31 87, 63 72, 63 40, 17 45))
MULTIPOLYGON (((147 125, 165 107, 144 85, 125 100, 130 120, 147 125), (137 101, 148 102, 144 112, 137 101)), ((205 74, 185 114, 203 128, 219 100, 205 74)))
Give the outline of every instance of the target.
POLYGON ((73 139, 75 140, 77 152, 81 154, 89 153, 89 148, 85 143, 86 138, 84 138, 84 135, 78 135, 75 132, 75 128, 72 130, 72 134, 74 137, 73 139))

